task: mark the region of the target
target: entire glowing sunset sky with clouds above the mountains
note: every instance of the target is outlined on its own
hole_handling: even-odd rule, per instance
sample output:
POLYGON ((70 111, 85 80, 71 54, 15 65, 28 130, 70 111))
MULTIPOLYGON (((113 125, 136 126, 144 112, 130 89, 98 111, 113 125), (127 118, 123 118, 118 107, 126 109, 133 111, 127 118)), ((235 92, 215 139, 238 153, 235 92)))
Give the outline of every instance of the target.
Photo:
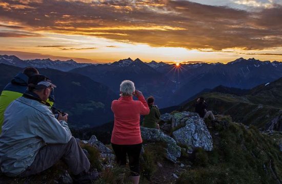
POLYGON ((282 61, 282 0, 0 0, 0 54, 93 63, 282 61))

